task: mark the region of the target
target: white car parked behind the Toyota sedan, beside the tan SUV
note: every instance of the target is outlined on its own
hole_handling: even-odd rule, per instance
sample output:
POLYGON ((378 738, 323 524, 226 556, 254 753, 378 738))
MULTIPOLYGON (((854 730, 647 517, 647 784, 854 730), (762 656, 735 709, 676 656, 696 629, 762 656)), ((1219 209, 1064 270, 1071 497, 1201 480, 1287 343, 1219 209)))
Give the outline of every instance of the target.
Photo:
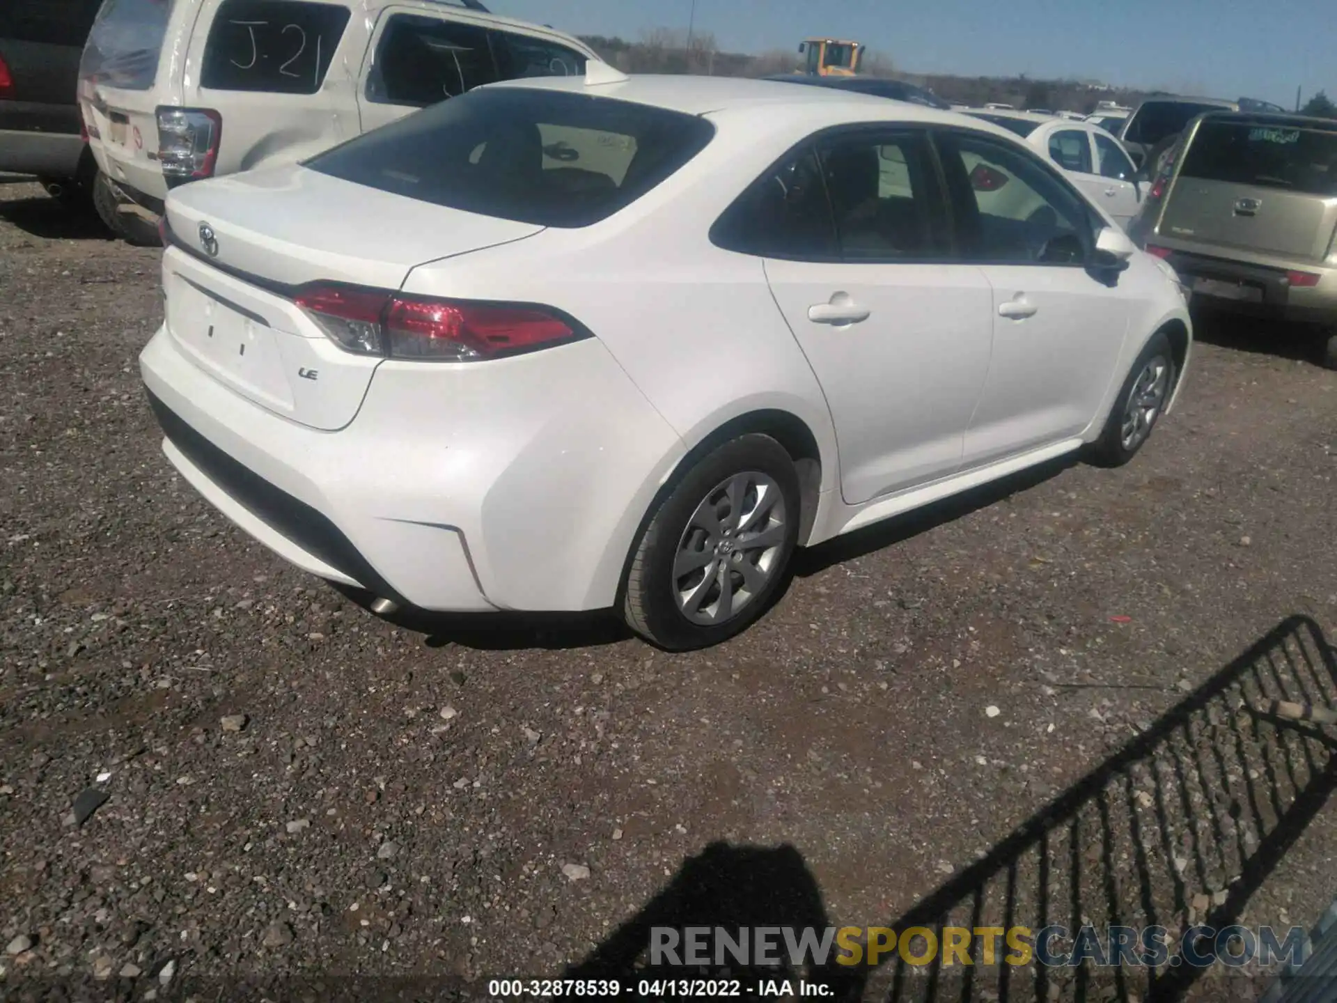
POLYGON ((1112 135, 1090 122, 1055 119, 1025 111, 969 111, 1013 132, 1039 150, 1127 230, 1142 207, 1138 169, 1112 135))

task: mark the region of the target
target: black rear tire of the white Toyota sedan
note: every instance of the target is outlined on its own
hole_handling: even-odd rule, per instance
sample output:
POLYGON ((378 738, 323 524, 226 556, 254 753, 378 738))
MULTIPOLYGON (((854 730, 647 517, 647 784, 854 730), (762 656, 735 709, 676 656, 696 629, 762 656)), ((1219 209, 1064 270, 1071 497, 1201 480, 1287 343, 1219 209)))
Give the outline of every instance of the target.
POLYGON ((798 475, 785 447, 770 436, 745 435, 715 448, 663 497, 636 543, 623 583, 622 607, 627 626, 670 651, 709 647, 739 634, 775 598, 798 542, 798 475), (738 512, 746 515, 747 506, 761 497, 754 488, 745 487, 746 499, 739 499, 738 512, 733 512, 726 485, 735 477, 743 477, 741 483, 746 485, 746 479, 757 475, 758 480, 769 479, 778 488, 778 502, 783 507, 778 520, 774 508, 754 510, 765 512, 766 530, 775 539, 773 548, 766 547, 761 552, 746 546, 758 536, 754 530, 745 530, 737 538, 726 539, 731 536, 730 518, 737 524, 738 512), (714 511, 723 527, 718 539, 691 524, 698 508, 706 508, 711 499, 717 499, 714 511), (743 540, 737 551, 734 540, 743 540), (675 576, 679 548, 683 547, 683 552, 690 550, 709 560, 699 568, 701 578, 695 578, 697 568, 675 576), (722 562, 727 568, 725 575, 721 575, 722 562), (763 576, 757 578, 751 588, 746 580, 749 575, 742 570, 743 562, 747 562, 747 571, 763 576), (699 594, 693 588, 694 578, 695 584, 702 587, 699 594), (702 596, 695 603, 697 619, 679 607, 678 590, 683 582, 693 595, 702 596), (701 622, 701 618, 710 618, 711 608, 715 615, 723 612, 721 590, 726 582, 731 596, 731 615, 713 623, 701 622), (745 596, 742 603, 737 603, 739 595, 745 596))

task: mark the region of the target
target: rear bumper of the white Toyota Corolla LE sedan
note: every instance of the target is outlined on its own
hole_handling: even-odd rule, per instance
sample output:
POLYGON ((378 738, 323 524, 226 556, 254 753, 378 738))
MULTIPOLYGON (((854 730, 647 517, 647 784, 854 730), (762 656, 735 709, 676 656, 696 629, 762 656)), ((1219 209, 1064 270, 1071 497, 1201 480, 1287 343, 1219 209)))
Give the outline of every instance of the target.
POLYGON ((425 610, 603 608, 682 443, 598 341, 539 354, 384 362, 338 432, 241 397, 166 329, 140 372, 182 476, 297 567, 425 610))

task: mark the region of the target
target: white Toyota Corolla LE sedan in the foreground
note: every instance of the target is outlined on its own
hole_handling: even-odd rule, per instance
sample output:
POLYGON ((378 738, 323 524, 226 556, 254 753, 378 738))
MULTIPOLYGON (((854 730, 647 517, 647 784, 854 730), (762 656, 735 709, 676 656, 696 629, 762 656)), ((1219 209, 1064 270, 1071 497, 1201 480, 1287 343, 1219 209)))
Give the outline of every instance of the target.
POLYGON ((798 546, 1127 461, 1191 341, 1004 130, 594 63, 179 187, 164 238, 143 378, 233 522, 380 611, 612 607, 666 649, 798 546))

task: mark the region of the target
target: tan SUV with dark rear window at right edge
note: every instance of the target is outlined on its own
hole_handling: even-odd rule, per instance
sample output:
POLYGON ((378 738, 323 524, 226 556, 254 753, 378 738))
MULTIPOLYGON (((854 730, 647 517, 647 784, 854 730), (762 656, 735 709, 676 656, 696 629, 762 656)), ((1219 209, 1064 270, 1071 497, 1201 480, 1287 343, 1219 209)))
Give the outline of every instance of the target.
POLYGON ((1128 234, 1205 306, 1322 324, 1337 369, 1337 122, 1201 115, 1128 234))

